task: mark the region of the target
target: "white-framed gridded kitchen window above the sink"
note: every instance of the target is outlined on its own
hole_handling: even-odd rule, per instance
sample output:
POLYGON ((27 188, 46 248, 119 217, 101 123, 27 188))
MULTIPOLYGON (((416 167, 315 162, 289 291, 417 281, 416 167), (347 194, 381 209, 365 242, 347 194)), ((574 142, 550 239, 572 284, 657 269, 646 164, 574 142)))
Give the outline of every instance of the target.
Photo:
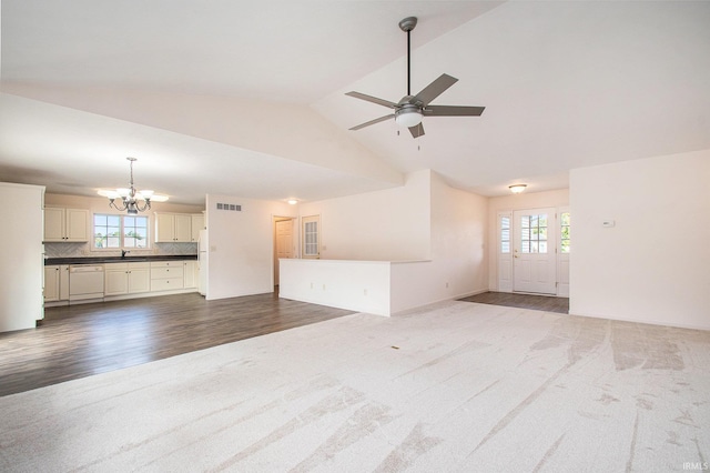
POLYGON ((93 249, 148 248, 148 217, 94 213, 93 249))

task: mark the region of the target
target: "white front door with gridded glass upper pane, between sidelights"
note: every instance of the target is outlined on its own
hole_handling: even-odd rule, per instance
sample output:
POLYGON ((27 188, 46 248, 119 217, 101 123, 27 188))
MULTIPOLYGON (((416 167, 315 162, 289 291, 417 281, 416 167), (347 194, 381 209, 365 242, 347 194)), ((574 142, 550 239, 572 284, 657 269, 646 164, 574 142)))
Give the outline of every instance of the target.
POLYGON ((513 218, 513 290, 556 294, 555 209, 519 210, 513 218))

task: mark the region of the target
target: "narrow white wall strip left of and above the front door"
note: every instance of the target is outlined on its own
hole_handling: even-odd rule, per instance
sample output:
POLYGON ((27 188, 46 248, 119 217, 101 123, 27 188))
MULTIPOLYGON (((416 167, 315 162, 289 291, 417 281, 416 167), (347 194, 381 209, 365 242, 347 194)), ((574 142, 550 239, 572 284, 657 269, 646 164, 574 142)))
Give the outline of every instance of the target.
MULTIPOLYGON (((523 192, 505 197, 490 198, 488 200, 488 288, 497 291, 498 288, 498 212, 560 208, 569 205, 569 189, 560 189, 547 192, 523 192)), ((576 217, 572 217, 576 219, 576 217)), ((575 220, 575 225, 577 221, 575 220)), ((576 232, 576 229, 574 230, 576 232)))

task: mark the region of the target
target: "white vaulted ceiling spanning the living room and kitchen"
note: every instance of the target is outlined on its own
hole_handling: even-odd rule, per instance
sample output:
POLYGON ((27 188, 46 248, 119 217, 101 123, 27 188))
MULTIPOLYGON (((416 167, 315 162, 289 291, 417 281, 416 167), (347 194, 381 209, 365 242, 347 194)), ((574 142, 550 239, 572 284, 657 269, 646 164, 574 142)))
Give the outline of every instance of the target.
POLYGON ((433 169, 498 195, 710 148, 710 2, 2 0, 0 180, 303 200, 433 169), (446 72, 479 118, 348 128, 446 72))

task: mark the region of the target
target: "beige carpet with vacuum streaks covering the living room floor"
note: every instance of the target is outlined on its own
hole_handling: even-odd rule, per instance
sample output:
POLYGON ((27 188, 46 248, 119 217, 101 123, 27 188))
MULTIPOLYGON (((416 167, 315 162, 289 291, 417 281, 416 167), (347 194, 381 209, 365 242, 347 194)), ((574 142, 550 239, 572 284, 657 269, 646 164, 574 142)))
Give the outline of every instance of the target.
POLYGON ((0 397, 0 413, 3 472, 697 471, 710 332, 448 302, 0 397))

